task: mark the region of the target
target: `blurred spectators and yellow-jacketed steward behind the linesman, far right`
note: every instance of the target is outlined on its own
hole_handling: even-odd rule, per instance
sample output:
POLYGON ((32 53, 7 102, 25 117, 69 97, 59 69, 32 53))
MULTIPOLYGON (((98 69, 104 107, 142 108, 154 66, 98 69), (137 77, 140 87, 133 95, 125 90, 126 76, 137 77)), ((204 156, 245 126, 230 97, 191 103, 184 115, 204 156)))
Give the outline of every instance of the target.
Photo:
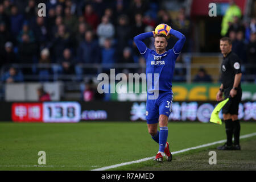
POLYGON ((232 40, 232 51, 242 61, 242 72, 247 75, 243 81, 256 81, 256 18, 243 21, 240 7, 236 5, 236 1, 230 0, 222 19, 221 36, 228 36, 232 40))

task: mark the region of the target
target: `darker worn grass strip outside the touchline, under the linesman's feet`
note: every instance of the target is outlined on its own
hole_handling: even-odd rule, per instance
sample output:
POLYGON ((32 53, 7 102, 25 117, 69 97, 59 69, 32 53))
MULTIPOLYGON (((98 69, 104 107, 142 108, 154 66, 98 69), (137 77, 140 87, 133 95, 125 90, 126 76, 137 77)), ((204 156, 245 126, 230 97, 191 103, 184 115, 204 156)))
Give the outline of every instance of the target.
MULTIPOLYGON (((139 171, 250 171, 256 170, 256 137, 241 140, 240 151, 219 151, 212 146, 210 149, 193 154, 174 155, 172 162, 155 163, 134 168, 139 171), (210 165, 209 151, 216 152, 217 164, 210 165)), ((119 168, 118 170, 122 170, 119 168)))

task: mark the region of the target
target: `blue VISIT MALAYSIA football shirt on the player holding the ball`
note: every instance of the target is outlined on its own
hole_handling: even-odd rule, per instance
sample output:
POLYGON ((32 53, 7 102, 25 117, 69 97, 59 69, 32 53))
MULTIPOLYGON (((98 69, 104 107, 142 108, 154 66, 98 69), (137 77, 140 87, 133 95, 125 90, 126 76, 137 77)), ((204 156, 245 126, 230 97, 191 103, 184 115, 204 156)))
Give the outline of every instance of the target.
POLYGON ((149 49, 143 43, 143 40, 154 36, 153 32, 146 32, 134 37, 134 42, 139 49, 141 55, 146 59, 146 77, 147 92, 152 93, 154 90, 163 92, 172 92, 172 78, 174 76, 175 61, 179 56, 181 49, 185 43, 185 36, 174 29, 170 30, 170 34, 176 36, 179 40, 174 48, 158 54, 156 51, 149 49), (155 74, 157 78, 155 78, 155 74), (151 85, 149 85, 151 84, 151 85))

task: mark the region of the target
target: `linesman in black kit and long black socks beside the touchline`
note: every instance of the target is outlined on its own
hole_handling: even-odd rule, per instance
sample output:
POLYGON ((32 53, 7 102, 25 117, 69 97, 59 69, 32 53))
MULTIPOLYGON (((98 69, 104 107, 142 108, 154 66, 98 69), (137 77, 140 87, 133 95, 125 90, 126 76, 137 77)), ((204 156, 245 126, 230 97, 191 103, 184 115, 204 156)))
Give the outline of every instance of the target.
POLYGON ((230 97, 230 100, 222 108, 222 114, 226 128, 226 143, 218 146, 218 150, 241 150, 240 147, 240 121, 238 120, 238 108, 242 98, 241 89, 241 63, 238 56, 232 52, 232 42, 229 38, 220 39, 220 49, 223 55, 221 64, 221 86, 217 93, 217 101, 230 97), (234 134, 234 143, 232 142, 234 134))

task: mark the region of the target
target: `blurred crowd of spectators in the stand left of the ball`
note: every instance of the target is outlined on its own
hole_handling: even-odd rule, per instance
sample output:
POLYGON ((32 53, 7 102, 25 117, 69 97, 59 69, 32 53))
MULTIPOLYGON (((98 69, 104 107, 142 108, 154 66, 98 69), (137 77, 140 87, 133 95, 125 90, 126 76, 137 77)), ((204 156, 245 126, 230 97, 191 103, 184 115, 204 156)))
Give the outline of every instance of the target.
MULTIPOLYGON (((31 78, 36 75, 40 81, 51 81, 53 73, 65 75, 63 80, 70 79, 69 75, 82 80, 82 75, 97 74, 83 64, 144 64, 133 42, 134 36, 153 31, 159 23, 172 24, 186 36, 189 34, 190 23, 184 9, 177 19, 172 19, 167 10, 160 9, 161 2, 0 0, 0 67, 9 72, 9 65, 14 63, 55 63, 59 66, 17 70, 31 78), (38 16, 41 2, 46 4, 46 17, 38 16)), ((171 41, 168 48, 175 39, 171 41)), ((152 39, 146 40, 146 44, 154 46, 152 39)), ((185 46, 184 51, 189 48, 185 46)))

